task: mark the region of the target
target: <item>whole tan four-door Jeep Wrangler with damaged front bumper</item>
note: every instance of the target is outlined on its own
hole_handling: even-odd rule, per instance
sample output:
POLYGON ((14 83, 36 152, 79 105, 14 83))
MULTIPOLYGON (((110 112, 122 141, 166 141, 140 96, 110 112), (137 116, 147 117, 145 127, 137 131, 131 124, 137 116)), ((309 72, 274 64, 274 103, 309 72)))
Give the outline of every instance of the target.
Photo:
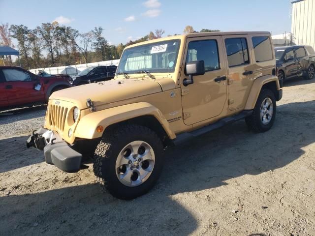
POLYGON ((271 128, 282 89, 269 32, 191 33, 126 47, 111 81, 54 92, 27 145, 66 172, 93 153, 109 192, 132 199, 161 174, 163 149, 241 118, 271 128))

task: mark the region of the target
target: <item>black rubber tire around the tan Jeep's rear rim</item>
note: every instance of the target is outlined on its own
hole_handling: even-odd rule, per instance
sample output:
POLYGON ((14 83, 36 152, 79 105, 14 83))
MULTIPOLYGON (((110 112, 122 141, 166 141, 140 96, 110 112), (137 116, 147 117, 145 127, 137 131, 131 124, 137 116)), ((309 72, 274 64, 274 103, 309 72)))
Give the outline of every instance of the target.
POLYGON ((252 111, 252 115, 249 117, 245 118, 246 124, 248 125, 248 127, 250 129, 252 129, 254 132, 256 133, 262 133, 262 132, 266 132, 268 131, 276 118, 276 99, 275 99, 275 94, 270 90, 270 89, 261 89, 258 99, 256 101, 255 107, 252 111), (269 121, 268 124, 263 124, 260 118, 260 108, 261 108, 261 104, 262 102, 266 99, 266 98, 270 98, 273 104, 273 114, 272 114, 272 118, 269 121))

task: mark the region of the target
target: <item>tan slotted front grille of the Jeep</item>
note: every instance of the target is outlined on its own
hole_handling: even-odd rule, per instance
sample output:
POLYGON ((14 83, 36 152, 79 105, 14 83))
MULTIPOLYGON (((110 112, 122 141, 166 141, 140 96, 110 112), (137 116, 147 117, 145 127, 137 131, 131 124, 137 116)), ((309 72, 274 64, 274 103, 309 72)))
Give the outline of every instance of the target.
POLYGON ((68 108, 49 104, 49 123, 56 129, 63 131, 65 118, 67 117, 68 108))

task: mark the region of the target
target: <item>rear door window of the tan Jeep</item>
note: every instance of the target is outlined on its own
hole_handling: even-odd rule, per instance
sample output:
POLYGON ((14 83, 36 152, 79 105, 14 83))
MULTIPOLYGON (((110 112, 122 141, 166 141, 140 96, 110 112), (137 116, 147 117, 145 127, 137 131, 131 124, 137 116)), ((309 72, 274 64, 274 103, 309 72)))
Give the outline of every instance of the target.
POLYGON ((229 67, 250 63, 246 38, 227 38, 225 48, 229 67))

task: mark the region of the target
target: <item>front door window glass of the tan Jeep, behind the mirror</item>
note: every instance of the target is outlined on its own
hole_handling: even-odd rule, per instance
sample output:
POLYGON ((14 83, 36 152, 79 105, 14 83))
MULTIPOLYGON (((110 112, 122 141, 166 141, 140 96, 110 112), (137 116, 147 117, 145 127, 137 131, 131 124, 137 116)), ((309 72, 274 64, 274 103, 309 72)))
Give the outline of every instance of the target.
POLYGON ((205 72, 220 69, 217 40, 189 42, 186 63, 195 60, 205 62, 205 72))

